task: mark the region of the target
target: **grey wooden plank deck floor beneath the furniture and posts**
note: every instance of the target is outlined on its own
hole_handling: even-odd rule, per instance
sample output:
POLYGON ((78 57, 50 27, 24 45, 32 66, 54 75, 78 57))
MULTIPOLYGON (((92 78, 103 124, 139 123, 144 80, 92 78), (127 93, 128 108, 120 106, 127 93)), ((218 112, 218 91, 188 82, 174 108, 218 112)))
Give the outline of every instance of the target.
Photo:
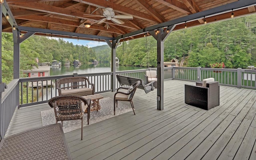
MULTIPOLYGON (((156 90, 134 96, 128 112, 65 134, 74 160, 253 160, 256 159, 256 90, 220 86, 220 106, 201 110, 184 103, 184 84, 164 81, 164 110, 156 90)), ((114 97, 113 92, 103 94, 114 97)), ((48 104, 18 109, 9 135, 42 126, 48 104)), ((118 108, 117 111, 118 112, 118 108)))

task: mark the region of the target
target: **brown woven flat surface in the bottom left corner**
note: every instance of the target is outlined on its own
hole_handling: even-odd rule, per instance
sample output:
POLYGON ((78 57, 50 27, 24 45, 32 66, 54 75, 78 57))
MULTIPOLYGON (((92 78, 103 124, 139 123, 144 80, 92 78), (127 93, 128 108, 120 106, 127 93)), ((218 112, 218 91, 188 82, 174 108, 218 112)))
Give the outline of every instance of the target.
POLYGON ((26 130, 0 143, 0 160, 71 159, 61 124, 26 130))

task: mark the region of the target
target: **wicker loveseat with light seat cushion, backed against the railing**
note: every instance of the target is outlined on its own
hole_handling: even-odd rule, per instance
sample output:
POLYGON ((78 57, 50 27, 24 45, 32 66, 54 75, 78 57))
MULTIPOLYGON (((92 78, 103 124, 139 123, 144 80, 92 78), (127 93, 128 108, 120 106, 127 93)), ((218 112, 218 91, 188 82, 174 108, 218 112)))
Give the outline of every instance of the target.
POLYGON ((60 78, 56 81, 56 89, 58 89, 59 96, 88 96, 95 92, 94 84, 90 83, 86 77, 60 78))

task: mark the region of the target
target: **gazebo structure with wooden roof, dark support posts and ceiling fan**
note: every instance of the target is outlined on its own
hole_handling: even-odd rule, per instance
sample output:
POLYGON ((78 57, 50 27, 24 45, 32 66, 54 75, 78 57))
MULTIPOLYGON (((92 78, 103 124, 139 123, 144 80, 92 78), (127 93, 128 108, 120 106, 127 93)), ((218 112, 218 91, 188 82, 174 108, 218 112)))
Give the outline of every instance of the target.
MULTIPOLYGON (((2 32, 12 32, 14 73, 20 74, 20 43, 32 35, 104 41, 112 49, 112 91, 116 48, 121 40, 153 36, 157 41, 157 109, 163 110, 164 40, 174 30, 256 12, 255 0, 0 0, 2 32)), ((1 51, 0 51, 1 54, 1 51)), ((1 62, 0 62, 1 63, 1 62)), ((0 68, 0 92, 4 92, 0 68)), ((18 94, 18 92, 16 93, 18 94)), ((0 94, 2 95, 2 94, 0 94)), ((1 99, 1 98, 0 98, 1 99)), ((19 105, 16 102, 17 106, 19 105)), ((2 104, 2 103, 1 103, 2 104)), ((2 111, 0 110, 0 113, 2 111)))

